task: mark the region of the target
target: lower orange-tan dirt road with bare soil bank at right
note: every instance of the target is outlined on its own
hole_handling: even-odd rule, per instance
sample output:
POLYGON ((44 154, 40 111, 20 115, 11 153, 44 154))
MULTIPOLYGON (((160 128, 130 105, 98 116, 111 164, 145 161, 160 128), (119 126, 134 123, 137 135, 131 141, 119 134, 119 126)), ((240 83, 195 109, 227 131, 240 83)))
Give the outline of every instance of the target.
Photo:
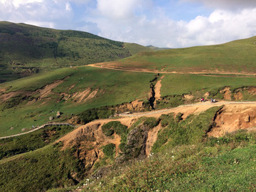
MULTIPOLYGON (((90 127, 94 124, 105 124, 111 121, 119 121, 126 125, 128 128, 132 123, 139 119, 139 117, 156 117, 159 118, 161 114, 169 114, 178 112, 183 114, 183 118, 186 118, 189 114, 199 114, 208 110, 210 107, 224 105, 223 110, 217 114, 215 118, 216 126, 208 133, 209 136, 220 137, 223 133, 234 132, 238 129, 247 129, 250 127, 256 127, 256 102, 216 102, 216 103, 196 103, 193 105, 181 105, 179 107, 166 109, 166 110, 154 110, 151 112, 136 112, 132 114, 119 114, 119 119, 97 119, 88 124, 82 125, 75 129, 70 134, 62 137, 57 142, 62 141, 64 146, 68 146, 68 143, 78 136, 81 129, 90 127), (234 126, 235 125, 235 126, 234 126)), ((156 134, 154 131, 152 134, 156 134)), ((151 136, 149 137, 151 139, 151 136)), ((151 139, 154 141, 154 139, 151 139)))

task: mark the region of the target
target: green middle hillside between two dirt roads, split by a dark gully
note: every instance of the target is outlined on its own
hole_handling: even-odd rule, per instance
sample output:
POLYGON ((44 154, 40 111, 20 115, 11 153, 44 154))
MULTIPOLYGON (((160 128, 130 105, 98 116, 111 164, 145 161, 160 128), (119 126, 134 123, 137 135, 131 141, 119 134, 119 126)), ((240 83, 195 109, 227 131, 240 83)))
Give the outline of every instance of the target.
MULTIPOLYGON (((151 87, 161 76, 80 66, 2 83, 0 136, 18 134, 23 128, 29 130, 33 125, 45 124, 49 117, 55 117, 57 111, 63 114, 53 121, 67 121, 82 114, 82 119, 87 119, 83 122, 87 122, 94 117, 109 117, 118 110, 115 106, 134 100, 144 101, 144 110, 148 110, 151 87), (93 109, 100 110, 101 115, 88 114, 87 110, 93 109), (84 113, 90 118, 85 118, 84 113)), ((228 100, 256 100, 255 84, 256 78, 244 76, 164 74, 161 100, 156 102, 155 108, 176 107, 198 101, 207 92, 209 98, 227 99, 226 91, 222 91, 225 87, 230 89, 228 100), (239 99, 238 94, 242 95, 239 99), (183 95, 192 95, 193 98, 186 100, 183 95)), ((132 107, 124 109, 132 110, 132 107)))

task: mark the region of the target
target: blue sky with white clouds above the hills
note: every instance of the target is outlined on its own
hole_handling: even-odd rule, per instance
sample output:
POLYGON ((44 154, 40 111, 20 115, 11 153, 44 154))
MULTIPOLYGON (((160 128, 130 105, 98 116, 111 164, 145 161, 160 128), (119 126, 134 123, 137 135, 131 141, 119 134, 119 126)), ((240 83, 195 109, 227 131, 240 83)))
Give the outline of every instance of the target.
POLYGON ((183 48, 256 36, 256 0, 0 0, 0 21, 183 48))

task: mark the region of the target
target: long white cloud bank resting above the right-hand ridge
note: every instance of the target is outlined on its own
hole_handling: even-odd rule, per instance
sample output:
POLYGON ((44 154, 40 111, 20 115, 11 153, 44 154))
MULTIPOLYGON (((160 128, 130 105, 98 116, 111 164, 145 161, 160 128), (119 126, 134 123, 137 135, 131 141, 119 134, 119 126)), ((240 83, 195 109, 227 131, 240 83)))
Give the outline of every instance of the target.
POLYGON ((100 36, 144 46, 188 47, 225 43, 256 35, 256 9, 241 11, 215 10, 210 16, 197 16, 191 21, 174 21, 168 16, 149 20, 135 16, 124 25, 109 19, 95 21, 100 36))

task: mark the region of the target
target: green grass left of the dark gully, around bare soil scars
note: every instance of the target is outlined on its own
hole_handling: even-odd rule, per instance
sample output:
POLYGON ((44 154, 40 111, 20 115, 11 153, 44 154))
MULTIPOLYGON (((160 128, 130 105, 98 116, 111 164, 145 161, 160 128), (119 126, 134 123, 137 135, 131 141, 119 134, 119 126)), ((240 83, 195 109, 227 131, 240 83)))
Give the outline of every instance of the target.
MULTIPOLYGON (((55 112, 63 112, 59 119, 63 121, 72 115, 82 114, 87 118, 86 110, 97 108, 97 117, 107 118, 113 114, 111 106, 133 100, 147 100, 150 80, 154 78, 151 73, 127 73, 102 68, 82 66, 78 68, 62 68, 53 72, 30 76, 13 82, 6 82, 0 87, 6 87, 6 92, 19 91, 19 95, 31 95, 26 99, 14 102, 11 98, 0 104, 0 136, 18 134, 21 129, 29 129, 32 125, 41 125, 49 121, 55 112), (39 97, 38 92, 31 92, 44 87, 47 84, 63 79, 63 82, 55 87, 48 97, 37 102, 29 100, 39 97), (87 88, 98 90, 97 95, 87 102, 76 102, 70 98, 63 99, 63 93, 73 95, 87 88), (6 106, 10 102, 11 105, 6 106), (18 105, 17 105, 18 104, 18 105), (40 107, 38 107, 40 106, 40 107), (105 107, 110 106, 110 107, 105 107), (55 112, 53 112, 55 111, 55 112), (11 129, 14 127, 14 129, 11 129)), ((86 120, 86 118, 83 118, 86 120)), ((92 118, 93 119, 93 118, 92 118)), ((89 119, 92 120, 92 119, 89 119)), ((86 120, 87 121, 87 120, 86 120)))

